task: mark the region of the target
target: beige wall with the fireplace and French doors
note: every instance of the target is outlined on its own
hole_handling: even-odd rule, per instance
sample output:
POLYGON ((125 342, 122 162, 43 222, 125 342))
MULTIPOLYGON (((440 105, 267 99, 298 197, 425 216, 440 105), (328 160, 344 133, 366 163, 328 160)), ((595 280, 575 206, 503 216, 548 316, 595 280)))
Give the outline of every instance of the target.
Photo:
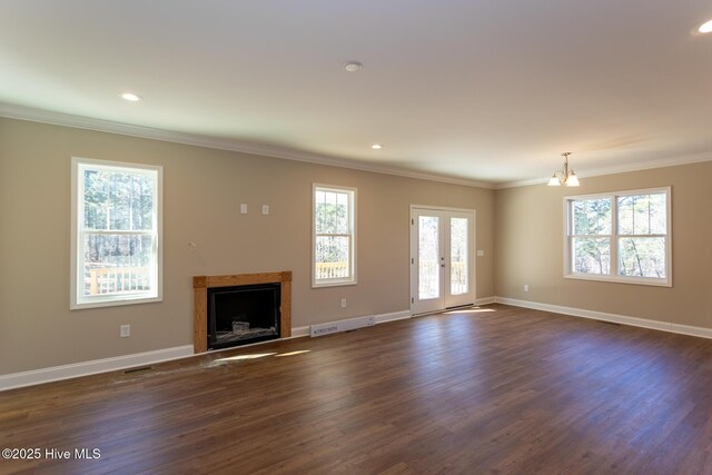
POLYGON ((293 270, 295 327, 407 310, 411 204, 476 209, 493 296, 493 190, 0 119, 0 374, 191 344, 194 275, 293 270), (162 303, 69 310, 72 156, 164 167, 162 303), (313 182, 358 188, 356 286, 310 288, 313 182))

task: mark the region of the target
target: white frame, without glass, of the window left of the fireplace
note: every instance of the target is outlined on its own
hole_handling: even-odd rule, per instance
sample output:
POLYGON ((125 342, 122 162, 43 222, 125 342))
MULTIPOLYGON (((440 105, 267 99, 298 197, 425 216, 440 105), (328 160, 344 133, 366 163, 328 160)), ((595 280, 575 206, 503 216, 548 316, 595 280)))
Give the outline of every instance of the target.
MULTIPOLYGON (((164 168, 152 165, 128 164, 121 161, 96 160, 72 157, 71 159, 71 265, 70 265, 70 309, 111 307, 117 305, 146 304, 164 299, 164 168), (86 169, 108 169, 126 172, 151 172, 155 180, 154 231, 156 249, 150 269, 150 291, 127 293, 122 295, 83 295, 83 171, 86 169)), ((116 231, 110 231, 116 234, 116 231)))

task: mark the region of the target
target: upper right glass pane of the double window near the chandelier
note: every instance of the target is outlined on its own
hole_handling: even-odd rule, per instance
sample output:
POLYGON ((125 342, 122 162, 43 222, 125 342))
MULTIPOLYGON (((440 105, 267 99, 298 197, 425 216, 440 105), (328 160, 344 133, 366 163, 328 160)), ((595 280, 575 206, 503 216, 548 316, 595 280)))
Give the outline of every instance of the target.
POLYGON ((666 232, 665 194, 622 196, 619 204, 619 234, 647 235, 666 232))

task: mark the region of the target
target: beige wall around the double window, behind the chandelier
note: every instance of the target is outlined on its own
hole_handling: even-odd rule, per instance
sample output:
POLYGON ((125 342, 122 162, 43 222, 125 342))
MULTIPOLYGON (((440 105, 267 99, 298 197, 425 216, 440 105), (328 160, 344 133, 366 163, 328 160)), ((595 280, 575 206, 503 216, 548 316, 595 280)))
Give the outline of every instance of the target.
POLYGON ((712 328, 711 179, 712 162, 703 162, 585 178, 580 188, 497 190, 496 295, 712 328), (563 278, 564 196, 664 186, 672 187, 672 288, 563 278))

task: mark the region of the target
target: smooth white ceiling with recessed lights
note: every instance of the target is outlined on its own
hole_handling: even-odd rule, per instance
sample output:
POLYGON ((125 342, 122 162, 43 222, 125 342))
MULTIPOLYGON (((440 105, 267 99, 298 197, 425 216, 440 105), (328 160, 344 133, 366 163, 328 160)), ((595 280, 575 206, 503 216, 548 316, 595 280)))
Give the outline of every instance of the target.
POLYGON ((545 181, 563 151, 582 177, 712 160, 712 33, 692 33, 709 0, 1 0, 0 13, 0 115, 493 187, 545 181))

